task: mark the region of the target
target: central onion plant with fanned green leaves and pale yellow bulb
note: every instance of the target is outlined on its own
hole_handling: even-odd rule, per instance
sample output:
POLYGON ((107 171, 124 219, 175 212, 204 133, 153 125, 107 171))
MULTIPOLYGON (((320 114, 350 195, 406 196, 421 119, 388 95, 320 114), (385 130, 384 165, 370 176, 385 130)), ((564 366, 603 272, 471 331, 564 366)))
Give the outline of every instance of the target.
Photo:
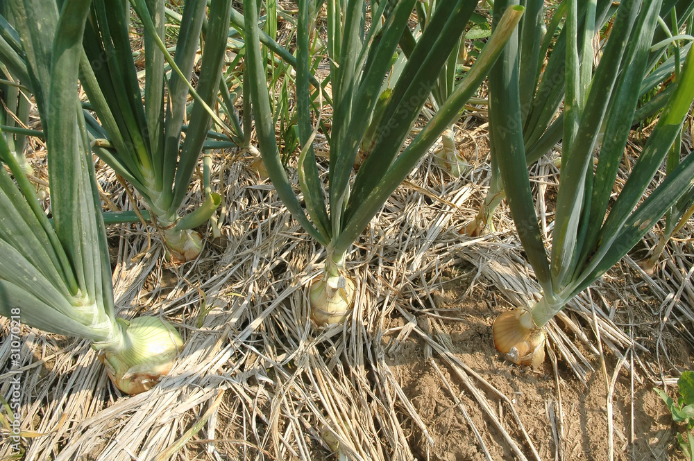
POLYGON ((398 184, 427 153, 486 77, 503 44, 522 15, 522 7, 509 8, 473 68, 459 82, 432 120, 403 145, 432 91, 443 65, 464 31, 476 2, 442 3, 430 18, 407 60, 403 73, 376 121, 378 136, 371 155, 353 175, 353 164, 377 104, 382 82, 408 26, 416 0, 398 2, 346 2, 328 0, 328 56, 332 87, 332 130, 329 136, 328 184, 319 176, 312 139, 319 130, 311 119, 321 112, 310 98, 309 1, 298 1, 296 37, 296 104, 298 134, 303 148, 298 157, 298 182, 305 208, 294 192, 282 165, 275 137, 271 103, 258 34, 260 3, 244 1, 248 93, 260 153, 281 200, 298 223, 327 250, 323 275, 310 289, 312 318, 317 324, 341 322, 355 302, 355 281, 345 270, 348 250, 398 184), (367 11, 371 27, 365 31, 367 11), (327 206, 326 206, 327 195, 327 206))

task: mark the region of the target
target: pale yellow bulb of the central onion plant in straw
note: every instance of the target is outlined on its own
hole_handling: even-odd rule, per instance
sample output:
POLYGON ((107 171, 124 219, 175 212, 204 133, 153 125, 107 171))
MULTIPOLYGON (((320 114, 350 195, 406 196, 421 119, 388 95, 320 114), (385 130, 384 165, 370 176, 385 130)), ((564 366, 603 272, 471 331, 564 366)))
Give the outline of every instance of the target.
POLYGON ((342 323, 352 311, 355 283, 349 277, 321 277, 310 289, 311 320, 318 327, 342 323))

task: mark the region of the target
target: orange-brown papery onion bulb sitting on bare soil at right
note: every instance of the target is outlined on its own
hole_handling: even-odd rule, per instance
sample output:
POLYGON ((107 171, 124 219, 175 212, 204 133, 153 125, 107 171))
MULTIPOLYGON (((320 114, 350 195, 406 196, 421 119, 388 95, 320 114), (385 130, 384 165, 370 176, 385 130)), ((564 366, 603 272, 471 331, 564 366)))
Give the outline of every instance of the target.
POLYGON ((537 367, 545 360, 545 331, 534 324, 527 309, 501 313, 492 329, 494 347, 511 362, 537 367))

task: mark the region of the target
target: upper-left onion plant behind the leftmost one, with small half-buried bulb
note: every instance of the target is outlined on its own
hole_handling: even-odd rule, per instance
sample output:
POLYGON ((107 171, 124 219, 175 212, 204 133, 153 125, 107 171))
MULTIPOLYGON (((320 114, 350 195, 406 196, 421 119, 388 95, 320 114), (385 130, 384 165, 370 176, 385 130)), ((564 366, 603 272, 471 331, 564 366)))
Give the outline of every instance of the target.
POLYGON ((130 8, 124 0, 95 0, 85 28, 81 83, 99 123, 90 119, 92 150, 137 190, 174 261, 195 259, 201 236, 192 231, 219 206, 217 193, 181 217, 210 120, 226 59, 231 1, 186 1, 175 60, 167 50, 164 1, 133 0, 144 27, 144 94, 130 49, 130 8), (209 15, 209 19, 208 19, 209 15), (204 46, 196 89, 189 80, 204 46), (167 78, 167 64, 170 67, 167 78), (194 97, 189 113, 188 98, 194 97), (186 117, 185 138, 181 136, 186 117))

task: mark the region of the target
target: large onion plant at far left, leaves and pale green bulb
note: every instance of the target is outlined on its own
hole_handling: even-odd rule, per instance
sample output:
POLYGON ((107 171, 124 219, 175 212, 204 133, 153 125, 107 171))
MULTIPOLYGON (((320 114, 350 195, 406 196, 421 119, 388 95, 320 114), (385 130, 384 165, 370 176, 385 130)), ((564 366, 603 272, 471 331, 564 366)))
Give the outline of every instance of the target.
POLYGON ((52 221, 0 137, 0 314, 85 338, 124 392, 151 388, 183 341, 164 320, 116 318, 101 204, 77 93, 90 0, 12 0, 46 135, 52 221), (21 19, 19 19, 21 18, 21 19))

